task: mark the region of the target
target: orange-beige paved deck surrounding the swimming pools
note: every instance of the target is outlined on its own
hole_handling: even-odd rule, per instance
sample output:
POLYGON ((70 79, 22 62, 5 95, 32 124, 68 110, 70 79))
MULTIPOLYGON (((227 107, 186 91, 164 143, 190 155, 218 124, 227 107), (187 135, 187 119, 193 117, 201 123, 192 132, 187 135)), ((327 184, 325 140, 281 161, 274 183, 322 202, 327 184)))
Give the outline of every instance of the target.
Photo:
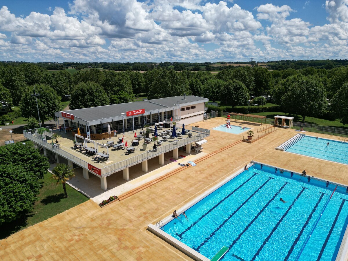
MULTIPOLYGON (((214 118, 199 122, 197 125, 212 128, 223 124, 223 120, 214 118)), ((195 167, 183 168, 182 172, 104 208, 89 200, 1 240, 0 258, 3 260, 190 260, 148 232, 147 225, 155 224, 159 219, 168 216, 174 209, 188 203, 226 176, 242 168, 250 160, 296 172, 306 169, 310 176, 348 183, 346 165, 274 149, 295 134, 293 129, 278 129, 252 144, 238 143, 207 158, 195 167)), ((211 136, 207 138, 209 142, 204 146, 205 153, 226 147, 240 140, 242 136, 243 134, 232 135, 212 130, 211 136)), ((338 137, 332 138, 338 140, 338 137)))

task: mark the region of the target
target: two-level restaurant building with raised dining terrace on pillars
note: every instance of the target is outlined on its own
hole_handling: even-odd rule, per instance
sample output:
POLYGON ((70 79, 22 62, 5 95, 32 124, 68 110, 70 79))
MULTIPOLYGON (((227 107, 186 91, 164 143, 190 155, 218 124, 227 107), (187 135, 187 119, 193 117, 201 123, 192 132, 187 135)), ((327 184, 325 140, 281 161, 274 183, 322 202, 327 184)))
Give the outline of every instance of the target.
POLYGON ((123 179, 129 180, 130 166, 141 163, 142 170, 147 172, 149 159, 158 157, 158 164, 164 165, 164 153, 171 152, 171 157, 177 159, 179 150, 190 154, 192 145, 206 142, 204 138, 209 136, 210 131, 191 124, 204 119, 204 105, 207 101, 207 98, 198 96, 175 96, 60 111, 55 112, 55 126, 48 127, 50 133, 38 135, 38 129, 32 129, 24 130, 23 134, 38 148, 44 149, 51 164, 66 163, 73 168, 81 167, 85 179, 89 179, 89 174, 94 174, 101 179, 101 188, 107 190, 107 176, 123 171, 123 179), (177 131, 184 129, 185 134, 178 134, 179 137, 168 134, 168 128, 173 127, 173 124, 177 131), (164 136, 168 139, 164 139, 156 148, 152 147, 153 142, 149 142, 146 149, 141 147, 142 140, 139 140, 131 153, 127 153, 129 148, 121 150, 117 146, 108 146, 107 142, 116 143, 123 138, 128 139, 130 145, 135 134, 139 135, 146 129, 144 125, 150 125, 151 129, 162 126, 167 131, 164 136), (55 133, 61 136, 57 144, 49 138, 55 133), (92 148, 98 154, 103 151, 108 157, 105 161, 96 160, 97 153, 94 156, 87 155, 81 148, 77 149, 74 142, 81 143, 81 147, 92 148))

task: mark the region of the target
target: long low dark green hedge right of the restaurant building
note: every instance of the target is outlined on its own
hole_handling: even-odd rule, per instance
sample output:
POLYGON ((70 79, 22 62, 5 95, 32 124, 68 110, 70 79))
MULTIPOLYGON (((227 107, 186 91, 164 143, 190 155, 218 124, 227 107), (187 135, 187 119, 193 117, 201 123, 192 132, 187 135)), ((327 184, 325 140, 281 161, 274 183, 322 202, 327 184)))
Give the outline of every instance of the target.
POLYGON ((279 111, 284 112, 283 108, 280 105, 271 106, 271 107, 258 107, 258 106, 244 106, 240 108, 234 108, 231 106, 213 106, 213 105, 206 105, 208 108, 208 112, 211 111, 218 111, 219 116, 221 116, 222 111, 226 112, 236 112, 236 113, 259 113, 259 112, 270 112, 270 111, 279 111))

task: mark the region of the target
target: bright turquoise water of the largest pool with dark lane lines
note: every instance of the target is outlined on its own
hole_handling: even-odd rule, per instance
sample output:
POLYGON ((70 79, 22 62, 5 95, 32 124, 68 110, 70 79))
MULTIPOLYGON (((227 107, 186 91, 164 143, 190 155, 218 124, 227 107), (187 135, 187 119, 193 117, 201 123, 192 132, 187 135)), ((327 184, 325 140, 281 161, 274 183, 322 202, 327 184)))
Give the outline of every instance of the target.
POLYGON ((187 219, 180 216, 162 229, 209 259, 227 246, 222 260, 335 260, 348 222, 348 194, 338 187, 329 201, 334 188, 255 165, 187 209, 187 219))

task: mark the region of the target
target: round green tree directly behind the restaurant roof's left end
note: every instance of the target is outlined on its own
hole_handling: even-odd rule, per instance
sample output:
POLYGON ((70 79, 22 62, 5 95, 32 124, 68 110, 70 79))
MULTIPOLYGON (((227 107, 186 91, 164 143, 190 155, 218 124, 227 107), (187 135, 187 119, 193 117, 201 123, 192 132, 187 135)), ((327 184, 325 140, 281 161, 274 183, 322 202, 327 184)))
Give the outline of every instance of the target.
POLYGON ((97 107, 109 104, 109 98, 103 87, 95 82, 81 82, 71 92, 69 108, 71 110, 97 107))

